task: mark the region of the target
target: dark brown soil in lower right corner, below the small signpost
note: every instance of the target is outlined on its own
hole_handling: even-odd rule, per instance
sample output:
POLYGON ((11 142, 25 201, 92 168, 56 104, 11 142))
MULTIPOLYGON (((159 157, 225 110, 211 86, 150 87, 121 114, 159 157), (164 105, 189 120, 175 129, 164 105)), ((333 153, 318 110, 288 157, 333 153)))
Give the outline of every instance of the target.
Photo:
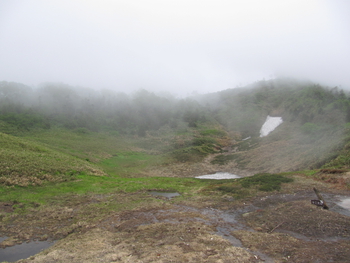
POLYGON ((348 262, 349 211, 334 203, 335 195, 327 195, 330 210, 312 205, 310 198, 315 199, 312 192, 259 198, 254 201, 259 208, 242 215, 255 231, 232 234, 276 262, 348 262))

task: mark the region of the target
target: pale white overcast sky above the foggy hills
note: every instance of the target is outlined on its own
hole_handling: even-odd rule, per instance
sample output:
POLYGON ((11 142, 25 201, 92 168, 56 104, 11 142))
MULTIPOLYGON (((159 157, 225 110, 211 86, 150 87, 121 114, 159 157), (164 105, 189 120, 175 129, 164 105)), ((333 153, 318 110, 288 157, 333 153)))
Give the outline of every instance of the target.
POLYGON ((348 0, 0 0, 0 81, 187 95, 350 88, 348 0))

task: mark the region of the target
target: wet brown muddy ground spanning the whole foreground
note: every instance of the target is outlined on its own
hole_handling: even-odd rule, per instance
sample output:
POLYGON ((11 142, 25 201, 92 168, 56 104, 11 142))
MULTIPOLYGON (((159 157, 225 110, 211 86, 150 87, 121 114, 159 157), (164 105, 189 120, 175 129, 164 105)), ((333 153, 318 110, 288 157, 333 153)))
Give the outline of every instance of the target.
POLYGON ((279 192, 245 200, 149 192, 70 196, 64 206, 32 204, 25 216, 21 204, 2 203, 0 233, 9 238, 0 246, 57 240, 18 261, 36 263, 349 262, 350 211, 338 205, 345 196, 348 190, 296 179, 279 192), (311 204, 315 186, 329 210, 311 204), (103 209, 140 198, 135 208, 103 209))

